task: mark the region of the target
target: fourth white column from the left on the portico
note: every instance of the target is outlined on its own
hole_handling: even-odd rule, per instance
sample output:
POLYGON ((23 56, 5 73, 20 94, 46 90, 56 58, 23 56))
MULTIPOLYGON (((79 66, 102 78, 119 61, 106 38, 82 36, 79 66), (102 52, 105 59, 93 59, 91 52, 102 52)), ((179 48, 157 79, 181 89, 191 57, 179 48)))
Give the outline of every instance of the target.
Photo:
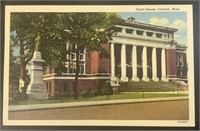
POLYGON ((149 81, 147 77, 147 47, 143 47, 142 51, 142 70, 143 70, 143 81, 149 81))

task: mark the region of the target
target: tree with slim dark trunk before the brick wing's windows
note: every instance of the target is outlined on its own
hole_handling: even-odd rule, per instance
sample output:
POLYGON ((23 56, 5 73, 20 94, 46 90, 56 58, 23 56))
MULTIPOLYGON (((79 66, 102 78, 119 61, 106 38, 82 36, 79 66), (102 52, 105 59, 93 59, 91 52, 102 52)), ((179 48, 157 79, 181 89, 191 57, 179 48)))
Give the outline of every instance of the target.
POLYGON ((114 26, 121 22, 115 13, 70 13, 66 17, 67 38, 76 48, 76 73, 74 99, 78 98, 79 53, 80 50, 105 53, 102 43, 107 43, 114 33, 114 26))

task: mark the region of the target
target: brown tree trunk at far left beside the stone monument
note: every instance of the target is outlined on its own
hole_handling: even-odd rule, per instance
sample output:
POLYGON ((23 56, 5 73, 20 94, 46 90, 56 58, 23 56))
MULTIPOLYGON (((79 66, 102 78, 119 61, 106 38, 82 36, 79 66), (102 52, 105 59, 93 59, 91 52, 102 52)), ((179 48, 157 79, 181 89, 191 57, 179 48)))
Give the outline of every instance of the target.
POLYGON ((19 80, 19 89, 24 94, 26 93, 25 76, 26 76, 26 62, 25 62, 25 54, 24 54, 24 43, 23 43, 23 40, 20 40, 20 80, 19 80))

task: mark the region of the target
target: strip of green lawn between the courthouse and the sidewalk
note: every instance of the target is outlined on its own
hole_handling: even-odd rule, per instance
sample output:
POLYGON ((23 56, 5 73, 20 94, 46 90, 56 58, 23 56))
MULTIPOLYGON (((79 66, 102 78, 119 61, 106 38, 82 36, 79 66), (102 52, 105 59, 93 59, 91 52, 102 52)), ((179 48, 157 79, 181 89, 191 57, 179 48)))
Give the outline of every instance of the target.
POLYGON ((27 100, 20 101, 14 105, 28 105, 28 104, 49 104, 49 103, 67 103, 67 102, 84 102, 84 101, 101 101, 101 100, 119 100, 119 99, 146 99, 158 97, 174 97, 174 96, 188 96, 187 91, 171 91, 171 92, 121 92, 109 96, 94 96, 94 97, 79 97, 78 100, 67 97, 54 97, 48 100, 27 100))

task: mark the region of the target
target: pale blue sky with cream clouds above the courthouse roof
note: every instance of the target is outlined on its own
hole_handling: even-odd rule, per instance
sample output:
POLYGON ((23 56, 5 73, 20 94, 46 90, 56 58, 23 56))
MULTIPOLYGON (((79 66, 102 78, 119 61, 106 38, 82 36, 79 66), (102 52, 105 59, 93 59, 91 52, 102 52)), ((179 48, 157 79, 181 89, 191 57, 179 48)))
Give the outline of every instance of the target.
POLYGON ((161 25, 178 29, 175 40, 179 44, 187 44, 186 12, 120 12, 123 19, 134 17, 136 21, 161 25))

